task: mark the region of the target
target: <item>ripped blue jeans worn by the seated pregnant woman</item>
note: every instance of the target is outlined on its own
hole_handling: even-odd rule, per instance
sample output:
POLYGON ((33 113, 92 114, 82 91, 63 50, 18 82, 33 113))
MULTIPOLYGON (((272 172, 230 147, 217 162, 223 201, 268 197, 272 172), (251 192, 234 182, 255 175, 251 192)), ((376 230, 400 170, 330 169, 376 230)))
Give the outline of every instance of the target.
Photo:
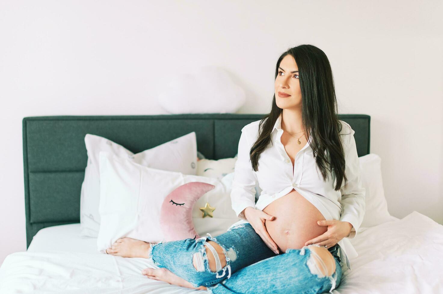
POLYGON ((158 267, 167 268, 194 287, 206 286, 214 294, 331 292, 342 279, 338 244, 328 248, 335 261, 335 271, 329 276, 323 274, 327 273, 326 264, 310 250, 311 246, 318 245, 275 254, 246 223, 216 238, 209 236, 152 244, 148 256, 158 267), (218 254, 208 239, 223 249, 225 267, 221 267, 218 254), (204 245, 214 253, 217 272, 210 270, 204 245))

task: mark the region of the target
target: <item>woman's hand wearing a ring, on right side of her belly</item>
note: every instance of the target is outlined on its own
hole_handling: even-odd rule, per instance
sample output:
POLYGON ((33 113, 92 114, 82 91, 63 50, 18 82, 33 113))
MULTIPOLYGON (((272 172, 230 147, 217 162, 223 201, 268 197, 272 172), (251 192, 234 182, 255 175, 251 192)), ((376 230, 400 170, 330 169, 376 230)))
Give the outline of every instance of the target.
POLYGON ((328 230, 319 237, 307 241, 305 245, 317 244, 323 247, 327 245, 326 248, 330 248, 337 244, 338 241, 348 236, 352 229, 352 225, 349 221, 338 221, 336 219, 317 221, 317 224, 327 225, 328 230))

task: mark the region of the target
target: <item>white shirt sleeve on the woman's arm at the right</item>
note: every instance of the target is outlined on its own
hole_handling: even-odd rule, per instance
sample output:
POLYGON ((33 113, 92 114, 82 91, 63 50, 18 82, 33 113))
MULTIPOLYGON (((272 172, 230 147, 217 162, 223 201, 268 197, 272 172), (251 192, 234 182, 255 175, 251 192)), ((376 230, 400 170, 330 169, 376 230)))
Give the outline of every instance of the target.
POLYGON ((355 144, 354 133, 349 126, 351 134, 348 135, 345 147, 345 173, 348 179, 348 185, 345 188, 344 182, 340 189, 342 199, 342 215, 340 221, 348 221, 352 225, 351 232, 347 238, 354 238, 360 228, 363 216, 365 215, 365 194, 366 189, 361 182, 360 160, 357 154, 357 145, 355 144))

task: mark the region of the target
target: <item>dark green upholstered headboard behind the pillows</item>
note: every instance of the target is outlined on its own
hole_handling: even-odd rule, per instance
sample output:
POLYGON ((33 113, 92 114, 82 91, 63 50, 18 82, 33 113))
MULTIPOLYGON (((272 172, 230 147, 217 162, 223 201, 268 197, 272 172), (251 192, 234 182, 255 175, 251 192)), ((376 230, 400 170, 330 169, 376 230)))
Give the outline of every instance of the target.
MULTIPOLYGON (((195 131, 206 158, 234 157, 241 129, 265 114, 31 116, 23 118, 27 246, 40 229, 80 221, 88 160, 85 135, 106 137, 133 153, 195 131)), ((339 115, 355 130, 358 155, 369 153, 369 115, 339 115)))

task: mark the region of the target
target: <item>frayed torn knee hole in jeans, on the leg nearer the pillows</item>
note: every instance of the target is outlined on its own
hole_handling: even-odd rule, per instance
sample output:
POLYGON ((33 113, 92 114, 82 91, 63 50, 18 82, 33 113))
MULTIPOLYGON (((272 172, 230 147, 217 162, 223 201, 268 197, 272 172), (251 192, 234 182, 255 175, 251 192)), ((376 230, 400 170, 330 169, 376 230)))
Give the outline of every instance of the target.
MULTIPOLYGON (((222 254, 219 254, 219 252, 216 250, 216 248, 214 248, 214 244, 210 244, 209 242, 206 241, 207 237, 203 237, 203 243, 202 243, 202 248, 194 253, 193 257, 192 257, 192 263, 194 268, 199 271, 210 271, 213 272, 214 274, 217 273, 217 278, 221 278, 225 275, 225 271, 226 269, 228 269, 229 275, 228 278, 231 275, 231 267, 229 265, 229 261, 234 261, 237 259, 237 252, 234 250, 234 248, 229 248, 228 250, 225 249, 225 247, 223 245, 220 245, 218 243, 216 243, 216 239, 212 238, 210 239, 210 241, 215 242, 218 246, 216 246, 218 248, 218 251, 220 251, 220 249, 222 250, 222 254), (214 259, 211 258, 211 263, 210 260, 208 260, 208 254, 210 254, 212 257, 214 257, 214 259), (223 260, 223 264, 222 261, 220 259, 220 256, 223 255, 225 257, 225 261, 223 260), (205 260, 207 262, 207 268, 205 269, 205 260), (211 269, 212 267, 212 269, 211 269), (214 271, 215 270, 215 271, 214 271), (223 274, 222 275, 218 275, 218 272, 223 270, 223 274)), ((221 252, 220 252, 221 253, 221 252)))

